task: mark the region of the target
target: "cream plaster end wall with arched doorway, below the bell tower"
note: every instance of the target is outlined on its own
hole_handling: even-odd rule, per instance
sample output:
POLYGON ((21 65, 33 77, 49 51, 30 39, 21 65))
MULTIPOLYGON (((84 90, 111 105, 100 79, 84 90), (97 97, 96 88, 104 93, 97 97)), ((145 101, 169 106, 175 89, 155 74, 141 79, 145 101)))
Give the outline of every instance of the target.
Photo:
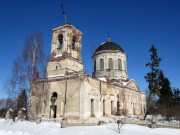
MULTIPOLYGON (((31 92, 32 93, 38 93, 37 91, 41 91, 42 88, 41 83, 34 83, 31 86, 31 92)), ((50 105, 51 103, 51 97, 52 93, 57 93, 57 114, 56 117, 59 118, 60 116, 66 116, 66 117, 73 117, 73 118, 79 118, 80 113, 80 79, 70 79, 70 80, 59 80, 59 81, 48 81, 48 85, 45 86, 45 89, 48 91, 48 98, 46 99, 46 106, 43 105, 43 102, 40 102, 37 104, 37 99, 40 99, 42 101, 43 96, 38 96, 38 94, 32 94, 31 96, 31 115, 32 117, 46 117, 46 118, 52 118, 53 116, 50 116, 50 105), (66 85, 67 81, 67 85, 66 85), (66 88, 67 86, 67 88, 66 88), (65 98, 66 93, 66 98, 65 98), (66 99, 66 102, 65 102, 66 99), (65 104, 66 103, 66 104, 65 104), (64 106, 65 105, 65 106, 64 106), (43 111, 40 111, 39 109, 38 114, 35 113, 36 108, 42 108, 43 111), (44 108, 43 108, 44 107, 44 108), (65 110, 64 110, 65 109, 65 110), (65 113, 65 115, 64 115, 65 113)))

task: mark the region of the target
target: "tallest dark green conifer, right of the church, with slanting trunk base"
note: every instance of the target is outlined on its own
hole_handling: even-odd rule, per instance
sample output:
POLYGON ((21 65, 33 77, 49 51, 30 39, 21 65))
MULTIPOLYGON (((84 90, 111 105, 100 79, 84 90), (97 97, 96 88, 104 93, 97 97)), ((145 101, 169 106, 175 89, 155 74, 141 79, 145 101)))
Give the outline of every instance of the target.
POLYGON ((147 98, 147 110, 144 116, 144 119, 146 118, 149 109, 150 109, 150 103, 152 101, 152 97, 154 95, 159 95, 159 65, 161 62, 161 58, 158 57, 157 49, 154 45, 151 46, 151 49, 149 50, 151 53, 151 62, 146 64, 146 67, 150 68, 150 72, 147 73, 145 76, 146 81, 148 82, 148 89, 149 89, 149 96, 147 98))

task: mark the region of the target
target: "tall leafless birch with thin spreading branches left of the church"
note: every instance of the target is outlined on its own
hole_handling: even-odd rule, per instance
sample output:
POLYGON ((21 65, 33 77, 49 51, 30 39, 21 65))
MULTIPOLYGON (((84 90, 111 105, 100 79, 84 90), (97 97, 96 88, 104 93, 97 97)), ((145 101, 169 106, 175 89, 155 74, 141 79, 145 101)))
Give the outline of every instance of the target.
MULTIPOLYGON (((13 62, 11 75, 4 87, 8 97, 17 97, 25 89, 30 104, 30 82, 36 79, 37 72, 41 77, 45 77, 45 69, 42 33, 33 33, 27 37, 21 55, 13 62)), ((27 109, 29 112, 29 107, 27 109)))

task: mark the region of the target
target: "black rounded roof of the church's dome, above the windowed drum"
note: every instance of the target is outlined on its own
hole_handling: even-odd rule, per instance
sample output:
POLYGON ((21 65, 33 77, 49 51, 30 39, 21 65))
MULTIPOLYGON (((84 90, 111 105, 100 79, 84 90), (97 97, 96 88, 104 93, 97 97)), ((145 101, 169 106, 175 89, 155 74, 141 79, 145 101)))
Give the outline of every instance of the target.
POLYGON ((124 53, 124 50, 118 44, 114 42, 103 43, 96 49, 95 53, 99 51, 103 51, 103 50, 119 50, 120 52, 124 53))

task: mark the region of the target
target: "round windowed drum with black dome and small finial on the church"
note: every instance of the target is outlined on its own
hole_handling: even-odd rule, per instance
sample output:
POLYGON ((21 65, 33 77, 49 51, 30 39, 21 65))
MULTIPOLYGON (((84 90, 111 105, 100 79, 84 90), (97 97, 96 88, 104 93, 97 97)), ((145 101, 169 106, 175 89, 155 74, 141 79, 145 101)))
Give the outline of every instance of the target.
POLYGON ((100 80, 127 80, 127 54, 118 44, 110 41, 102 43, 94 52, 93 77, 100 80))

